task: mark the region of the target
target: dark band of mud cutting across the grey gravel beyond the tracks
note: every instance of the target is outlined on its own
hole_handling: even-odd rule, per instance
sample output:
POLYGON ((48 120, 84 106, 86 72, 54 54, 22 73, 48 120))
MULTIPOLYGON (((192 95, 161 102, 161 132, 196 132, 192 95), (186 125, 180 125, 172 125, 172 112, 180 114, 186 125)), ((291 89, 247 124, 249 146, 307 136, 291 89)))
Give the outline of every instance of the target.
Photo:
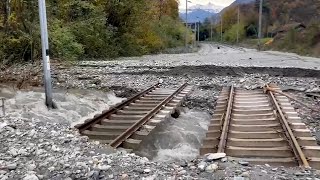
POLYGON ((181 76, 188 74, 194 76, 243 76, 244 74, 268 74, 275 77, 312 77, 320 78, 320 70, 316 69, 303 69, 303 68, 277 68, 277 67, 227 67, 215 65, 203 66, 131 66, 126 71, 122 72, 109 72, 106 74, 127 74, 127 75, 167 75, 167 76, 181 76), (132 71, 130 71, 130 69, 132 71), (149 70, 147 70, 149 69, 149 70), (152 69, 152 70, 151 70, 152 69), (127 71, 129 70, 129 71, 127 71))

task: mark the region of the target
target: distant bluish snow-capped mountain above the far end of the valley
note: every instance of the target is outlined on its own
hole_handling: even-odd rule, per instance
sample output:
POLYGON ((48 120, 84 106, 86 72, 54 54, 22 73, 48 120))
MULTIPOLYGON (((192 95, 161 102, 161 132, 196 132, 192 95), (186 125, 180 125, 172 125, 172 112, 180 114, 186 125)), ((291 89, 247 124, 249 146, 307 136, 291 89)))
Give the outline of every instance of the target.
MULTIPOLYGON (((214 16, 223 9, 222 6, 217 6, 213 3, 206 5, 196 4, 188 7, 188 22, 204 21, 205 18, 214 16)), ((185 21, 186 9, 180 9, 180 17, 185 21)))

